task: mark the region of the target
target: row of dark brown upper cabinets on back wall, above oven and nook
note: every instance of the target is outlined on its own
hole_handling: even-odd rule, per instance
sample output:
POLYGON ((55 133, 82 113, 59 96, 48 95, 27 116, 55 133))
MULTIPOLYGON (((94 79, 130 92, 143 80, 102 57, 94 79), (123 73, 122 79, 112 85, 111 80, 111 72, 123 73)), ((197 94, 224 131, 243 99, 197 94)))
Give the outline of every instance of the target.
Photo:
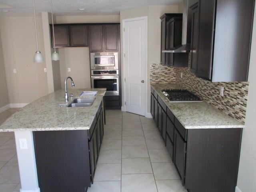
MULTIPOLYGON (((52 25, 51 36, 53 37, 52 25)), ((56 48, 89 46, 90 52, 118 52, 120 24, 55 24, 56 48)), ((52 47, 54 45, 52 38, 52 47)))

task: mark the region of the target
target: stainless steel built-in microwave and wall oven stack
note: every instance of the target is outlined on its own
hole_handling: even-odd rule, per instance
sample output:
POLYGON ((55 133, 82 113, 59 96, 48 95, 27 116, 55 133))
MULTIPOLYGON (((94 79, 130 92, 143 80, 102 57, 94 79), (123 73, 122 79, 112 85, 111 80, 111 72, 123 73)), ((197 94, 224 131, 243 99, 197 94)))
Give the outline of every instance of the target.
POLYGON ((92 88, 107 88, 106 94, 119 94, 118 53, 90 53, 92 88))

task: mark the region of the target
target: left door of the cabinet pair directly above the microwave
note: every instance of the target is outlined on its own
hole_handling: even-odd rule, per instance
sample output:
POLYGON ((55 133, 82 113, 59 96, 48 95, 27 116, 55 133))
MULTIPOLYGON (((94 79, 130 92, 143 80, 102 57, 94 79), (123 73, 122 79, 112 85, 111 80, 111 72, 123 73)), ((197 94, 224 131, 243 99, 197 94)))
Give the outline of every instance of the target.
POLYGON ((102 25, 89 25, 90 52, 103 51, 102 25))

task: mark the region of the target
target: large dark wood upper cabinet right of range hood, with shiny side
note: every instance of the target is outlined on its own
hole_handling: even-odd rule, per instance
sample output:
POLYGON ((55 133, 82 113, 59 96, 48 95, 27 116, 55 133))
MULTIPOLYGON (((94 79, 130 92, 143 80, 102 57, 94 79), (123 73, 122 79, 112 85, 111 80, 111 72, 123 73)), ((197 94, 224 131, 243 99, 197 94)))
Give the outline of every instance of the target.
POLYGON ((198 0, 197 8, 195 3, 188 3, 192 72, 212 82, 247 81, 254 0, 198 0))

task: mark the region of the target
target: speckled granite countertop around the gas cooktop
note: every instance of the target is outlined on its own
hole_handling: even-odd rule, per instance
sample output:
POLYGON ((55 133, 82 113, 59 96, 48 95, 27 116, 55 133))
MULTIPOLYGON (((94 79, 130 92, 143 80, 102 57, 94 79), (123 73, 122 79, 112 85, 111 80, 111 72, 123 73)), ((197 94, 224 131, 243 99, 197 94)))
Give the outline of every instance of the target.
POLYGON ((177 84, 150 85, 186 129, 244 128, 242 122, 238 122, 207 102, 168 102, 162 90, 182 89, 177 84))

